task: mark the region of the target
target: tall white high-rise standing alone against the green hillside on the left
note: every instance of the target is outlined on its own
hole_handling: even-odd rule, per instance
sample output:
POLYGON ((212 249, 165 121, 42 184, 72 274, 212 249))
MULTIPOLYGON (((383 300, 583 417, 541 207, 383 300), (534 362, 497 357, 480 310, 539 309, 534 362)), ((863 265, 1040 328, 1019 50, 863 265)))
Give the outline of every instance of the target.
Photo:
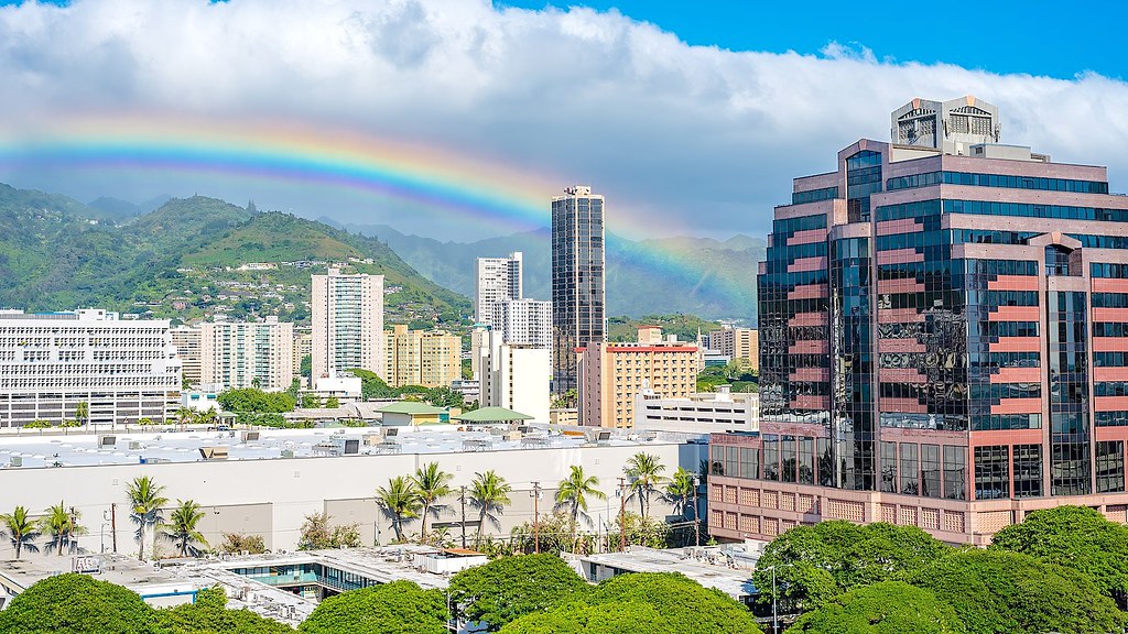
POLYGON ((312 282, 314 387, 321 377, 354 368, 387 379, 384 275, 343 275, 329 268, 326 275, 314 275, 312 282))

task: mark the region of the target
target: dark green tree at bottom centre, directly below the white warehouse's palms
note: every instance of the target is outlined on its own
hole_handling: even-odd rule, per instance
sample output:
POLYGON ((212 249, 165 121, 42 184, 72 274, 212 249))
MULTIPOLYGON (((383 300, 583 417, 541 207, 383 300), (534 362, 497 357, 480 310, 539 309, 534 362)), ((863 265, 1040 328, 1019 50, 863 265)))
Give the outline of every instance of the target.
POLYGON ((556 555, 502 557, 450 580, 450 600, 468 622, 496 632, 514 618, 578 599, 588 584, 556 555))

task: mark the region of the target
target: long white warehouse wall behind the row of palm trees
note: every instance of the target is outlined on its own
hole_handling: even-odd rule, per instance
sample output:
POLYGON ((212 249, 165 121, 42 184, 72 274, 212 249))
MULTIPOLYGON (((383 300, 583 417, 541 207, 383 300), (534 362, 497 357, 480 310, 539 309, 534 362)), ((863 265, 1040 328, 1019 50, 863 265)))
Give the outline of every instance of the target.
MULTIPOLYGON (((477 472, 494 469, 504 477, 513 493, 512 504, 505 508, 501 527, 486 527, 486 534, 508 536, 510 529, 532 518, 532 481, 539 482, 540 512, 550 511, 555 485, 565 478, 572 465, 583 466, 584 472, 600 479, 600 488, 609 500, 592 501, 594 520, 614 517, 618 512, 615 496, 617 477, 623 475, 627 459, 638 451, 654 454, 672 474, 678 466, 689 470, 698 467, 697 447, 677 443, 647 443, 623 447, 545 448, 511 451, 483 451, 461 454, 382 455, 326 458, 293 458, 264 460, 232 460, 212 463, 160 463, 150 465, 104 465, 58 468, 3 469, 0 478, 0 511, 11 512, 16 505, 42 513, 60 500, 73 505, 81 513, 80 523, 89 534, 80 537, 79 545, 92 553, 111 549, 113 536, 109 514, 116 503, 117 549, 135 553, 133 525, 129 520, 126 484, 134 477, 148 475, 166 487, 165 495, 176 500, 194 500, 206 511, 201 523, 202 532, 213 545, 222 541, 221 532, 262 535, 267 548, 297 548, 302 518, 309 513, 327 511, 334 523, 359 522, 361 539, 372 544, 377 537, 387 544, 393 536, 391 522, 374 503, 377 486, 387 485, 388 478, 409 475, 426 463, 437 461, 455 478, 457 490, 468 485, 477 472), (104 519, 105 518, 105 519, 104 519)), ((447 500, 448 508, 440 521, 456 521, 460 517, 457 495, 447 500)), ((628 502, 627 509, 637 512, 637 503, 628 502)), ((663 517, 670 507, 656 496, 652 499, 652 516, 663 517)), ((474 511, 467 504, 467 518, 474 511)), ((167 519, 167 513, 166 513, 167 519)), ((429 525, 434 521, 431 518, 429 525)), ((408 532, 418 531, 418 521, 406 525, 408 532)), ((473 536, 472 527, 467 535, 473 536)), ((458 529, 451 529, 456 540, 458 529)), ((162 545, 171 553, 171 545, 162 545)), ((147 551, 149 548, 147 547, 147 551)), ((11 558, 7 540, 0 544, 0 560, 11 558)), ((37 556, 37 555, 30 555, 37 556)))

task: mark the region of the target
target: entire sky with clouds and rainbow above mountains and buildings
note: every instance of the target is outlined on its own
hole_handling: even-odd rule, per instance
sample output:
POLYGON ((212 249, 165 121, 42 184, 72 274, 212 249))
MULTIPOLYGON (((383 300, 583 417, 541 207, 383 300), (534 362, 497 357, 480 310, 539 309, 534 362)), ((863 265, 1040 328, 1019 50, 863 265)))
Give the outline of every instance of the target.
POLYGON ((582 183, 629 237, 763 236, 890 111, 975 95, 1128 191, 1128 9, 879 5, 0 2, 0 182, 458 240, 582 183))

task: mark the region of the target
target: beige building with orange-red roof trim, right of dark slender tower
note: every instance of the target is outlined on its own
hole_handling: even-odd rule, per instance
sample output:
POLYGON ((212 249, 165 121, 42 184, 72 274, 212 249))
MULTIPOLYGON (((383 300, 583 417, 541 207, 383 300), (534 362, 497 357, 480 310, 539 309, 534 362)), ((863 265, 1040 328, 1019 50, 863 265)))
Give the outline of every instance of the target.
POLYGON ((635 397, 686 398, 697 388, 700 353, 695 344, 638 328, 635 343, 592 343, 580 355, 580 424, 633 428, 635 397))

